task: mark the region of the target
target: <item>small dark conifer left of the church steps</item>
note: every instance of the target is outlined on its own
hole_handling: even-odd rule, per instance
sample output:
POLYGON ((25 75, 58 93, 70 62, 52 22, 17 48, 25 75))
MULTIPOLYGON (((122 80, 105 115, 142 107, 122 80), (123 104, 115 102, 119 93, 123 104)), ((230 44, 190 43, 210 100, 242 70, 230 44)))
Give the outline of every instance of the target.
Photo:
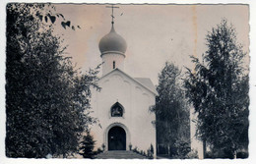
POLYGON ((94 151, 95 144, 96 141, 91 136, 90 132, 87 132, 87 135, 84 136, 83 140, 80 142, 79 154, 83 155, 84 158, 93 159, 96 155, 96 152, 94 151))

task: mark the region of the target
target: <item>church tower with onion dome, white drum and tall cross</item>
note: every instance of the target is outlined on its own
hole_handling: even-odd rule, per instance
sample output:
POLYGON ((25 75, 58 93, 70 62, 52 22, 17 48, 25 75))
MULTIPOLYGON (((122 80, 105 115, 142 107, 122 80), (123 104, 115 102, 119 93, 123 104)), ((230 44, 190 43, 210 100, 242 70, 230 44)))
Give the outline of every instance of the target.
POLYGON ((120 69, 123 70, 124 68, 124 58, 125 58, 125 51, 127 48, 126 41, 124 38, 116 33, 114 29, 114 16, 113 16, 113 9, 119 8, 107 6, 107 8, 112 8, 112 22, 111 22, 111 30, 109 33, 104 35, 98 44, 99 51, 101 53, 100 57, 102 58, 102 73, 103 75, 109 73, 113 69, 120 69))

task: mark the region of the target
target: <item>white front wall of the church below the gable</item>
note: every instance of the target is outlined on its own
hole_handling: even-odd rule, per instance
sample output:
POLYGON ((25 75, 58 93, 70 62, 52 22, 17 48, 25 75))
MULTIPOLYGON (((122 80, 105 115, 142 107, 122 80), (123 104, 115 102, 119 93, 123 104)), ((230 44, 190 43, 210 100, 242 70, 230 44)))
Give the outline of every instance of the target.
POLYGON ((92 97, 94 116, 101 125, 101 128, 95 125, 92 129, 96 147, 102 143, 107 146, 109 126, 120 124, 127 131, 127 150, 131 143, 133 147, 147 151, 152 143, 156 155, 156 129, 152 124, 156 116, 149 111, 149 107, 155 104, 155 95, 118 70, 103 77, 98 84, 102 89, 94 91, 92 97), (117 101, 124 107, 123 117, 110 116, 110 107, 117 101))

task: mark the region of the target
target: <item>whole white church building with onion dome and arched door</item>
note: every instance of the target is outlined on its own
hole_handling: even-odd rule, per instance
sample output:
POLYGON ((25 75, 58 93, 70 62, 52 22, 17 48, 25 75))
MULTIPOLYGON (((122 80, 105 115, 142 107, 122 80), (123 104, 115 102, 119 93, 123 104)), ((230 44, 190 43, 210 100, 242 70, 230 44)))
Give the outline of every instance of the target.
MULTIPOLYGON (((156 157, 156 120, 150 107, 155 105, 158 92, 150 79, 132 78, 124 72, 127 44, 113 26, 98 44, 102 59, 101 90, 93 90, 92 116, 99 125, 92 127, 96 148, 106 151, 130 150, 137 147, 146 151, 151 144, 156 157)), ((99 55, 98 55, 99 57, 99 55)))

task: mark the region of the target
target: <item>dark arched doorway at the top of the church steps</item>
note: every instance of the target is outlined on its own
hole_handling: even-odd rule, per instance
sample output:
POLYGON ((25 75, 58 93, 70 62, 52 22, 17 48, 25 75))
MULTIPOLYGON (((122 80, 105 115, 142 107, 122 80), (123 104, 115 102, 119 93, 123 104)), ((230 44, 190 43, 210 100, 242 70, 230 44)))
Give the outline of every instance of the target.
POLYGON ((126 150, 126 133, 121 127, 108 131, 108 150, 126 150))

